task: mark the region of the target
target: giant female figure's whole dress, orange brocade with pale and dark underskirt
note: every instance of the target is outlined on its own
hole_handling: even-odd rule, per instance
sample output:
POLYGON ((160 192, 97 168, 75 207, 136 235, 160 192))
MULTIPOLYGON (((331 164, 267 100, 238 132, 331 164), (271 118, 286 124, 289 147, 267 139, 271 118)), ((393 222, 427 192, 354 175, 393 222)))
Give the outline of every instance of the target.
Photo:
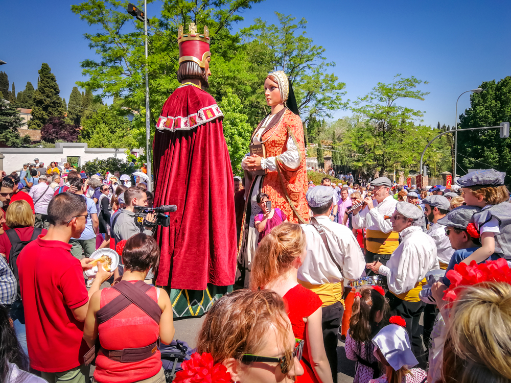
MULTIPOLYGON (((262 128, 266 118, 255 128, 255 134, 262 128)), ((288 221, 302 224, 309 222, 309 207, 305 194, 307 193, 307 166, 305 163, 304 127, 299 116, 284 108, 276 113, 261 137, 266 158, 276 157, 276 171, 268 171, 264 176, 255 176, 250 184, 249 198, 245 203, 245 213, 240 236, 238 254, 237 284, 248 286, 248 277, 251 269, 251 260, 257 246, 259 233, 253 227, 254 216, 261 212, 255 202, 259 193, 269 196, 272 207, 281 209, 288 221), (292 138, 299 154, 299 164, 291 169, 278 158, 287 150, 288 139, 292 138)))

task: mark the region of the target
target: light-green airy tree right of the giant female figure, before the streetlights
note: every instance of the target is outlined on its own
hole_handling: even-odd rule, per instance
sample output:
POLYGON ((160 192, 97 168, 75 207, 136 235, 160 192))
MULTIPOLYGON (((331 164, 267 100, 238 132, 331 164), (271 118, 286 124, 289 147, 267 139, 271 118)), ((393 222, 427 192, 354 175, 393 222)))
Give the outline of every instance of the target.
POLYGON ((345 137, 357 154, 355 165, 383 174, 397 166, 406 168, 419 162, 421 146, 425 147, 424 141, 431 136, 431 129, 413 124, 423 112, 400 106, 397 102, 424 100, 428 92, 417 89, 421 84, 427 82, 413 76, 403 78, 397 75, 392 83, 378 83, 368 94, 357 98, 351 109, 366 120, 345 137))

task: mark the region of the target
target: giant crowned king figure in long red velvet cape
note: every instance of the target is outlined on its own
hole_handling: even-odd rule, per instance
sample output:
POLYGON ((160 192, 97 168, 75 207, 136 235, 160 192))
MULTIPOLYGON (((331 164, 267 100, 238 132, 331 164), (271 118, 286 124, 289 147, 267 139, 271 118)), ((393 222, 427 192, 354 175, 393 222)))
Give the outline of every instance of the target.
POLYGON ((208 88, 210 35, 178 29, 181 85, 165 102, 153 142, 154 205, 177 205, 158 227, 156 284, 167 286, 174 316, 201 315, 231 291, 236 273, 234 179, 223 114, 208 88))

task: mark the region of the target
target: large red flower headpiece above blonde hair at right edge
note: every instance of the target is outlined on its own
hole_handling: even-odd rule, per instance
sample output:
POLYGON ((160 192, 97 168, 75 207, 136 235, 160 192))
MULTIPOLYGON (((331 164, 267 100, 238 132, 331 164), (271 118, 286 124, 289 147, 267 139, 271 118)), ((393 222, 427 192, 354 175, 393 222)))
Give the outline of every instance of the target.
POLYGON ((462 286, 471 286, 481 282, 503 282, 511 284, 511 268, 507 266, 504 258, 489 260, 482 264, 477 264, 475 260, 470 265, 454 265, 453 270, 449 270, 446 277, 451 281, 451 285, 444 291, 444 300, 454 301, 463 291, 462 286))

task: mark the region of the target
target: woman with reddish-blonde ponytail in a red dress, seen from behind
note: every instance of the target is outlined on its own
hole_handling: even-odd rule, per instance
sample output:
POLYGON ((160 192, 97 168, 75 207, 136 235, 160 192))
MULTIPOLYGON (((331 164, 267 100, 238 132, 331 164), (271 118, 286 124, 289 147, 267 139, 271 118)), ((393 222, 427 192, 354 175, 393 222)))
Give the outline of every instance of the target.
POLYGON ((252 260, 250 288, 270 289, 284 298, 294 336, 305 340, 300 363, 305 373, 297 382, 332 383, 321 329, 321 299, 298 283, 298 268, 307 254, 300 225, 284 222, 261 241, 252 260))

